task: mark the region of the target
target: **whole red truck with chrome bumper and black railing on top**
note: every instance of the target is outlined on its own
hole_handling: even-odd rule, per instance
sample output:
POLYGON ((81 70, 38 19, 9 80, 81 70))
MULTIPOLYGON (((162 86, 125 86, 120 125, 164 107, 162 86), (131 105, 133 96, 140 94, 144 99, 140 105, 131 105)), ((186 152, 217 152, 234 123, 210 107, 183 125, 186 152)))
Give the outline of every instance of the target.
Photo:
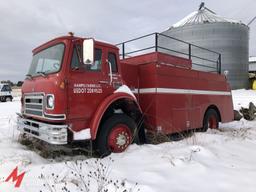
POLYGON ((118 45, 121 54, 115 45, 72 34, 34 49, 18 129, 55 145, 93 141, 107 155, 123 152, 145 132, 206 131, 232 121, 220 55, 215 73, 193 70, 193 57, 200 58, 192 54, 195 45, 177 40, 188 46, 185 58, 161 52, 174 50, 158 45, 162 34, 151 35, 153 46, 128 53, 127 43, 136 38, 118 45))

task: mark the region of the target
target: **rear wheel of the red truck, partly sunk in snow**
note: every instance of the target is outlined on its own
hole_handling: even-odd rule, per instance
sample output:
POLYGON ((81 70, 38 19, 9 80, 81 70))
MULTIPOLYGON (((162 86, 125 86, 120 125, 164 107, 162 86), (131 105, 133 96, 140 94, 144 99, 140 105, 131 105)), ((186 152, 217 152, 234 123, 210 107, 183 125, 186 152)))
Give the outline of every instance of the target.
POLYGON ((219 115, 214 109, 208 109, 203 120, 203 128, 202 131, 205 132, 210 129, 218 129, 219 128, 219 115))

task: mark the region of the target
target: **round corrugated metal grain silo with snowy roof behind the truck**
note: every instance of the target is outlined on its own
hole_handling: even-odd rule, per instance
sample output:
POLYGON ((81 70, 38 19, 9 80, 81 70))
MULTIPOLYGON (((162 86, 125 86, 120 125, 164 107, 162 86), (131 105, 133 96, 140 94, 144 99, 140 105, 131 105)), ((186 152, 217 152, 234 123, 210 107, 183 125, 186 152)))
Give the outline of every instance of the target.
MULTIPOLYGON (((221 53, 221 72, 227 70, 232 89, 248 87, 249 27, 240 21, 221 17, 201 3, 199 9, 162 32, 177 39, 221 53)), ((161 39, 160 46, 175 47, 176 55, 187 49, 182 44, 161 39)), ((162 50, 166 52, 165 50, 162 50)), ((213 57, 201 49, 192 50, 193 55, 213 57)), ((212 58, 211 58, 212 59, 212 58)), ((192 58, 194 69, 204 70, 202 62, 192 58), (197 65, 199 64, 199 65, 197 65)), ((211 65, 206 61, 203 64, 211 65)), ((207 71, 207 70, 206 70, 207 71)))

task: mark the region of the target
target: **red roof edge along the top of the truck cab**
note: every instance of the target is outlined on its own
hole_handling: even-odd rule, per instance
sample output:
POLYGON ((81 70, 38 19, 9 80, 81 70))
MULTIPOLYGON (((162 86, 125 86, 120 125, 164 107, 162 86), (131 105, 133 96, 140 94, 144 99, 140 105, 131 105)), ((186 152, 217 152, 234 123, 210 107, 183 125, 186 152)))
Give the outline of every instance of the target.
MULTIPOLYGON (((55 43, 63 41, 63 40, 84 40, 84 39, 90 39, 90 38, 82 38, 82 37, 76 37, 76 36, 71 36, 71 35, 57 37, 57 38, 54 38, 54 39, 36 47, 35 49, 32 50, 32 53, 35 54, 35 53, 37 53, 39 51, 42 51, 43 49, 49 47, 49 45, 54 45, 55 43)), ((113 49, 118 49, 118 47, 116 47, 116 46, 114 46, 110 43, 107 43, 107 42, 95 40, 95 43, 100 45, 100 46, 111 47, 113 49)))

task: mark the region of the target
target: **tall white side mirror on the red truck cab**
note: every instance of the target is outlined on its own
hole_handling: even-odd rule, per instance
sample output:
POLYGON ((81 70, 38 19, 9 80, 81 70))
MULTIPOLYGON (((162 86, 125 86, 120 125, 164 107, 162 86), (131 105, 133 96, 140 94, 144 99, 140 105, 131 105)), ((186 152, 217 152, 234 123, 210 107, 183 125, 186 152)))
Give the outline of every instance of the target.
POLYGON ((94 63, 94 40, 85 39, 83 43, 83 62, 85 65, 94 63))

